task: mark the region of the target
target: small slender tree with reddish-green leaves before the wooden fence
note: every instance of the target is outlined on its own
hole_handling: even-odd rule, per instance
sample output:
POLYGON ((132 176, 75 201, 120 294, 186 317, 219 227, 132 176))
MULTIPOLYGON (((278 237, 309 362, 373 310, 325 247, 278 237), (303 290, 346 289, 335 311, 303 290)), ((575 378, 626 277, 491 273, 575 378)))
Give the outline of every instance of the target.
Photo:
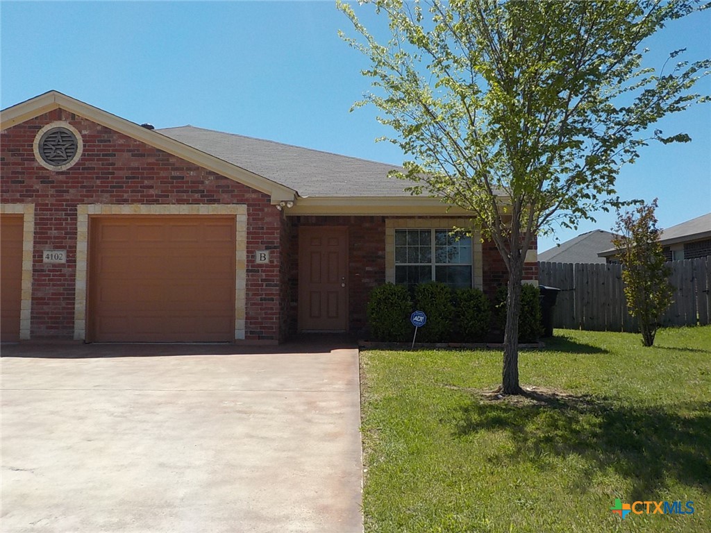
POLYGON ((614 231, 618 234, 612 245, 618 249, 623 266, 624 296, 632 316, 639 321, 642 344, 654 344, 659 320, 672 302, 669 284, 671 269, 665 266, 661 230, 657 228, 654 211, 657 199, 650 205, 640 205, 635 212, 618 212, 614 231))

